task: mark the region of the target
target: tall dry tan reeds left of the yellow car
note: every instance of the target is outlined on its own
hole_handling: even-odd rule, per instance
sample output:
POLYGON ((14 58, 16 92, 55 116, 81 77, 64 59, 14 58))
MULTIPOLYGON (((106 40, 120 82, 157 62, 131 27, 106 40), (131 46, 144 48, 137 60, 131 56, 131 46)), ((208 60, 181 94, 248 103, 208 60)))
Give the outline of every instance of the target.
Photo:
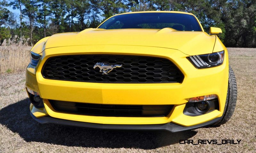
POLYGON ((25 70, 30 60, 28 39, 14 36, 0 46, 0 73, 25 70))

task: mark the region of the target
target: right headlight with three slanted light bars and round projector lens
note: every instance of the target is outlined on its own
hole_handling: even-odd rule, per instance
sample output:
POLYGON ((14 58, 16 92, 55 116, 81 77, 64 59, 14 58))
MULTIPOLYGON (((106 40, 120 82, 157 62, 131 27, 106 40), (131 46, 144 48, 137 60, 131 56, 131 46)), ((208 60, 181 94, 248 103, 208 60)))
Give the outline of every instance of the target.
POLYGON ((224 50, 211 54, 189 56, 187 58, 198 69, 210 68, 223 63, 224 50))

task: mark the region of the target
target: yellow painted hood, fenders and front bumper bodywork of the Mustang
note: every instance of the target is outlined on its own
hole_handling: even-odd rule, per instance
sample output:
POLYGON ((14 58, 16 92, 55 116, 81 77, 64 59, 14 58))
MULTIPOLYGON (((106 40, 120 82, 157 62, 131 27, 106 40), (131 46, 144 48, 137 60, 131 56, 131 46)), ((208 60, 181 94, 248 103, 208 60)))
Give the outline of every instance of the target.
MULTIPOLYGON (((158 11, 157 11, 158 12, 158 11)), ((172 13, 173 11, 168 11, 172 13)), ((176 13, 176 12, 174 12, 176 13)), ((190 13, 186 13, 190 14, 190 13)), ((201 26, 201 25, 200 25, 201 26)), ((55 34, 40 40, 33 52, 42 55, 38 66, 28 65, 26 87, 39 93, 44 108, 32 104, 36 118, 54 118, 100 124, 164 124, 173 122, 193 126, 221 117, 228 89, 228 52, 216 36, 205 32, 164 29, 86 29, 79 33, 55 34), (215 44, 215 45, 214 45, 215 44), (189 55, 209 54, 224 50, 223 64, 196 69, 189 55), (117 84, 88 83, 45 79, 41 70, 52 56, 80 54, 117 54, 162 57, 171 60, 183 73, 182 83, 117 84), (220 110, 199 116, 183 114, 188 98, 216 94, 220 110), (48 99, 94 104, 174 105, 165 117, 104 117, 54 110, 48 99)))

